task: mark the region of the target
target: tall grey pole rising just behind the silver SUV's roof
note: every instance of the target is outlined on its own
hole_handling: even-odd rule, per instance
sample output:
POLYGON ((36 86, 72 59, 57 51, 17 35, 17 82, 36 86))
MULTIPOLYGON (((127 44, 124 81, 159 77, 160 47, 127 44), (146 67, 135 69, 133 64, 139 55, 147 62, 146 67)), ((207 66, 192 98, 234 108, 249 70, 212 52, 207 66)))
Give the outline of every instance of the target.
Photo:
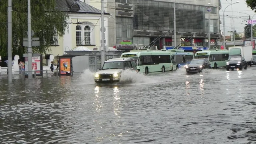
POLYGON ((104 0, 101 0, 101 68, 105 61, 105 43, 104 43, 104 0))

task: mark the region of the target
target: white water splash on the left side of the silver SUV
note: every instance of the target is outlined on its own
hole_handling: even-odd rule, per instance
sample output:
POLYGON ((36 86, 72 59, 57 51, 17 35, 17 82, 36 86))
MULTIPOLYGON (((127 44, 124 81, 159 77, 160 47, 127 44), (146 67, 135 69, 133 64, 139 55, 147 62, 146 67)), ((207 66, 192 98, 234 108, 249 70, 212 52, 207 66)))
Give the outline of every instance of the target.
POLYGON ((94 73, 89 69, 83 70, 83 73, 79 76, 79 80, 83 85, 95 84, 94 73))

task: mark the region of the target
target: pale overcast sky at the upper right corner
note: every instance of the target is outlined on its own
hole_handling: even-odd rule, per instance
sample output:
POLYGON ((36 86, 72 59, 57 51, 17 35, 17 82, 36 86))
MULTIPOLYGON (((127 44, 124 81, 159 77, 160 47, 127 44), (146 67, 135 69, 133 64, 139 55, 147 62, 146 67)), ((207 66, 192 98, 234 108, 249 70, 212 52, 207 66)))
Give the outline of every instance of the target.
MULTIPOLYGON (((223 10, 231 3, 236 2, 236 0, 221 0, 221 6, 223 8, 223 10)), ((222 10, 219 11, 220 12, 220 19, 222 24, 220 24, 220 29, 221 31, 223 31, 223 12, 222 10)), ((248 15, 253 16, 254 10, 251 10, 251 8, 247 7, 247 4, 245 2, 245 0, 239 0, 239 3, 230 5, 226 8, 225 10, 225 35, 227 34, 227 31, 231 31, 232 26, 233 26, 233 21, 230 17, 228 17, 227 15, 231 16, 234 19, 234 23, 235 23, 235 30, 236 32, 244 32, 244 26, 246 19, 248 19, 248 15), (237 12, 241 12, 241 13, 237 13, 237 12), (245 14, 247 13, 247 14, 245 14)), ((253 17, 253 19, 256 19, 256 15, 253 17)))

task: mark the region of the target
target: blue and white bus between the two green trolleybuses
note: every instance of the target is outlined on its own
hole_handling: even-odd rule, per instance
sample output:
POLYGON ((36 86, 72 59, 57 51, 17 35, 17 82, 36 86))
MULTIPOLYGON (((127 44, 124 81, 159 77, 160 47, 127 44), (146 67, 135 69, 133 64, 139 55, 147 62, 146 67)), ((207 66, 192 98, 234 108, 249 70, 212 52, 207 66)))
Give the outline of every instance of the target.
POLYGON ((190 61, 194 59, 194 52, 185 52, 184 49, 170 49, 168 51, 173 55, 172 62, 173 64, 177 64, 177 69, 184 67, 184 65, 190 63, 190 61))

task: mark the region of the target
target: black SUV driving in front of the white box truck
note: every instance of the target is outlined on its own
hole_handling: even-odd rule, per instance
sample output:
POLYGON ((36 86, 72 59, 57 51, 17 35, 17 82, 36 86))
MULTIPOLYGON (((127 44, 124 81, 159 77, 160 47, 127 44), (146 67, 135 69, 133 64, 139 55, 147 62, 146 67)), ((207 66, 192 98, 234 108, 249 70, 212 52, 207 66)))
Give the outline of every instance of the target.
POLYGON ((247 62, 242 56, 233 56, 231 57, 226 64, 227 70, 234 70, 235 68, 239 68, 240 70, 247 69, 247 62))

